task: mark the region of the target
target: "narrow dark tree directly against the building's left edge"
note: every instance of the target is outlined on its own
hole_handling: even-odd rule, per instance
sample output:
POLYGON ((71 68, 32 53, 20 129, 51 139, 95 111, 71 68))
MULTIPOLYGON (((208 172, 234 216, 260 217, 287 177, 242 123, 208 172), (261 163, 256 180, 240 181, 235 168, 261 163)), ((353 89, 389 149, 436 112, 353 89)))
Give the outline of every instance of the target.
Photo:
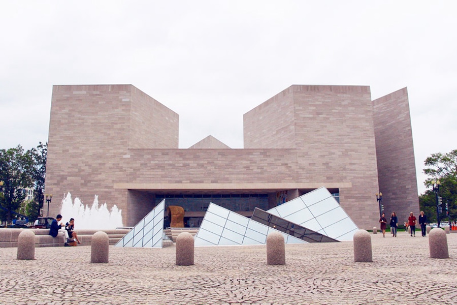
POLYGON ((45 189, 45 178, 46 178, 46 159, 48 155, 48 142, 40 144, 37 148, 30 149, 31 156, 34 160, 34 166, 32 168, 31 176, 34 180, 34 202, 35 205, 31 205, 26 214, 29 219, 37 219, 40 213, 40 208, 43 208, 44 202, 44 189, 45 189), (36 207, 36 210, 33 208, 36 207))

